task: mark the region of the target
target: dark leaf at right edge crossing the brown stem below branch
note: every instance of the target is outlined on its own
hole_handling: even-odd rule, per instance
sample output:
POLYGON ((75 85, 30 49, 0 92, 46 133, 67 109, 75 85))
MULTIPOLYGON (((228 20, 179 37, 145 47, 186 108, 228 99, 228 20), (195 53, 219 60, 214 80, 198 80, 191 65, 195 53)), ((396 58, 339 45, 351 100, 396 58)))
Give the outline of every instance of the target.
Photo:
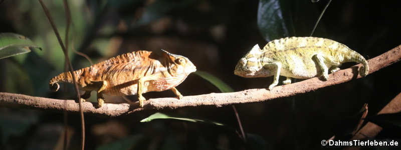
POLYGON ((401 127, 401 112, 384 113, 366 117, 365 120, 373 122, 383 128, 385 127, 401 127))

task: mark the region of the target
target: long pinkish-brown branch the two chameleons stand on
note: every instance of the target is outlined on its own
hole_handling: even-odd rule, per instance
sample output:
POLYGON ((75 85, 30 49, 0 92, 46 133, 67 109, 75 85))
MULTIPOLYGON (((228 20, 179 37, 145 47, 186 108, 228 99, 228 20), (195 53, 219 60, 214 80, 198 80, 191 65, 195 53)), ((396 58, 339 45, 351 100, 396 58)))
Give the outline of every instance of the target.
MULTIPOLYGON (((369 73, 388 66, 401 59, 401 45, 368 60, 369 73)), ((237 92, 210 93, 202 95, 184 96, 182 99, 173 97, 153 98, 146 100, 144 107, 139 107, 138 102, 128 103, 105 103, 101 108, 95 108, 90 102, 84 102, 82 107, 86 113, 96 113, 108 116, 128 114, 145 109, 179 108, 185 106, 214 105, 222 106, 236 103, 261 102, 270 99, 287 97, 299 93, 313 91, 322 87, 331 86, 360 78, 358 67, 361 64, 350 68, 339 70, 329 74, 327 81, 322 81, 318 77, 313 77, 292 84, 276 86, 273 90, 265 88, 247 89, 237 92)), ((60 99, 34 97, 22 94, 0 92, 0 105, 16 105, 19 107, 28 106, 36 108, 46 108, 55 110, 79 111, 78 103, 74 100, 65 101, 60 99)))

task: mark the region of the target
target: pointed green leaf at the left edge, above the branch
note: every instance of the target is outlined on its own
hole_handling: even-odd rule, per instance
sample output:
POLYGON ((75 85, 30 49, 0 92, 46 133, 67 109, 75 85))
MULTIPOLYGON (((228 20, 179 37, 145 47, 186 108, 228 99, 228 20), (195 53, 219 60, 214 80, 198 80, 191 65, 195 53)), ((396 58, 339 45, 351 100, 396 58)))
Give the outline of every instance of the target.
POLYGON ((0 59, 27 53, 34 48, 41 49, 28 37, 16 33, 0 33, 0 59))

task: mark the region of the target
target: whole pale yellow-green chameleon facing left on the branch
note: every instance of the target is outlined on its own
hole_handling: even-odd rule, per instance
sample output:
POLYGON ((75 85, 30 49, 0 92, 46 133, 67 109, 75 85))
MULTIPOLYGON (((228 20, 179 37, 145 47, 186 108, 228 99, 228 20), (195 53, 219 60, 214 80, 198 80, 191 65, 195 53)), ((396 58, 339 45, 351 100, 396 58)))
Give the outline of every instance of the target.
POLYGON ((293 78, 321 76, 328 79, 328 71, 339 70, 344 62, 358 62, 361 76, 367 75, 369 66, 366 59, 346 45, 320 37, 285 37, 272 40, 263 49, 256 44, 237 63, 234 74, 243 77, 274 76, 269 85, 272 90, 279 82, 279 75, 286 76, 283 84, 290 84, 293 78))

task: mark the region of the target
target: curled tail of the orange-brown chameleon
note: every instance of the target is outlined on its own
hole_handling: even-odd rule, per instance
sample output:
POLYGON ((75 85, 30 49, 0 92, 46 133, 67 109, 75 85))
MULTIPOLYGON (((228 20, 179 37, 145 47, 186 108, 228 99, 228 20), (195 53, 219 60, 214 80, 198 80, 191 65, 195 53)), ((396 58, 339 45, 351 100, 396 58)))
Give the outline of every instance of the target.
MULTIPOLYGON (((83 72, 83 68, 74 71, 75 78, 77 78, 76 81, 78 81, 78 79, 80 78, 82 72, 83 72)), ((49 88, 50 88, 50 90, 52 90, 52 91, 57 91, 57 90, 59 90, 60 84, 59 84, 58 82, 73 83, 71 72, 70 72, 70 71, 68 71, 68 72, 63 72, 63 73, 60 73, 59 75, 53 77, 53 78, 49 81, 49 88)))

